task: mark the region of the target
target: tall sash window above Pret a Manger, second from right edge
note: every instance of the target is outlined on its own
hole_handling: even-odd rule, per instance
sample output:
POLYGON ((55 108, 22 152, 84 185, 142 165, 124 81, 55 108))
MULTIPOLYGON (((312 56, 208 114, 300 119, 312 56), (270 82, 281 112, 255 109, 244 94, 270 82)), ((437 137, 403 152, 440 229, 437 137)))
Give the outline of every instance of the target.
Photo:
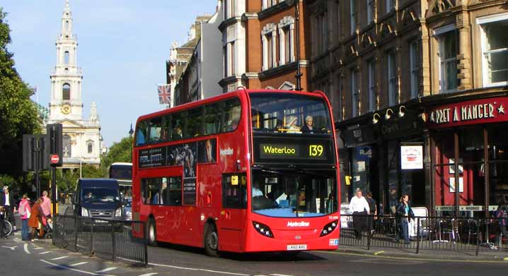
POLYGON ((439 91, 453 92, 457 89, 457 33, 454 25, 434 30, 439 43, 439 91))

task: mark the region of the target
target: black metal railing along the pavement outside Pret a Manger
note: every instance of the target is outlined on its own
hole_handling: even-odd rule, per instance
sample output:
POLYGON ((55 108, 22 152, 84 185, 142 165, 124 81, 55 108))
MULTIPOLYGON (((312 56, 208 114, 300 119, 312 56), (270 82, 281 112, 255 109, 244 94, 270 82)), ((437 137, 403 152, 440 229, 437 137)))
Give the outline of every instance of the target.
POLYGON ((403 248, 419 253, 422 250, 508 251, 507 226, 500 218, 414 217, 408 221, 409 242, 402 231, 407 217, 391 215, 341 215, 340 245, 371 248, 403 248), (355 226, 362 225, 362 234, 355 226))

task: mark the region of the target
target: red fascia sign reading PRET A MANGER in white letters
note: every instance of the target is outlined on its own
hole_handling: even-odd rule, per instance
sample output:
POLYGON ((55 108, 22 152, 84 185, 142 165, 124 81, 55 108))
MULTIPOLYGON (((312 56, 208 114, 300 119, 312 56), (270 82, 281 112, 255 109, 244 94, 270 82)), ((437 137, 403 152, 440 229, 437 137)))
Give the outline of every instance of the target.
POLYGON ((461 126, 507 121, 504 113, 507 106, 508 97, 447 104, 429 112, 429 125, 461 126))

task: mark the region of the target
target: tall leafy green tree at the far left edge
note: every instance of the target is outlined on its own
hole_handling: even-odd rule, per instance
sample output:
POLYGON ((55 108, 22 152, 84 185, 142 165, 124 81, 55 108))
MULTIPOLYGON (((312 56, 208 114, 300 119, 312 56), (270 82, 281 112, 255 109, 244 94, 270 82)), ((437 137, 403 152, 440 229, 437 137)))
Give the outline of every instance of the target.
POLYGON ((7 51, 11 30, 5 18, 0 7, 0 174, 18 179, 23 174, 23 134, 40 133, 41 121, 30 100, 33 91, 23 83, 14 68, 13 54, 7 51))

